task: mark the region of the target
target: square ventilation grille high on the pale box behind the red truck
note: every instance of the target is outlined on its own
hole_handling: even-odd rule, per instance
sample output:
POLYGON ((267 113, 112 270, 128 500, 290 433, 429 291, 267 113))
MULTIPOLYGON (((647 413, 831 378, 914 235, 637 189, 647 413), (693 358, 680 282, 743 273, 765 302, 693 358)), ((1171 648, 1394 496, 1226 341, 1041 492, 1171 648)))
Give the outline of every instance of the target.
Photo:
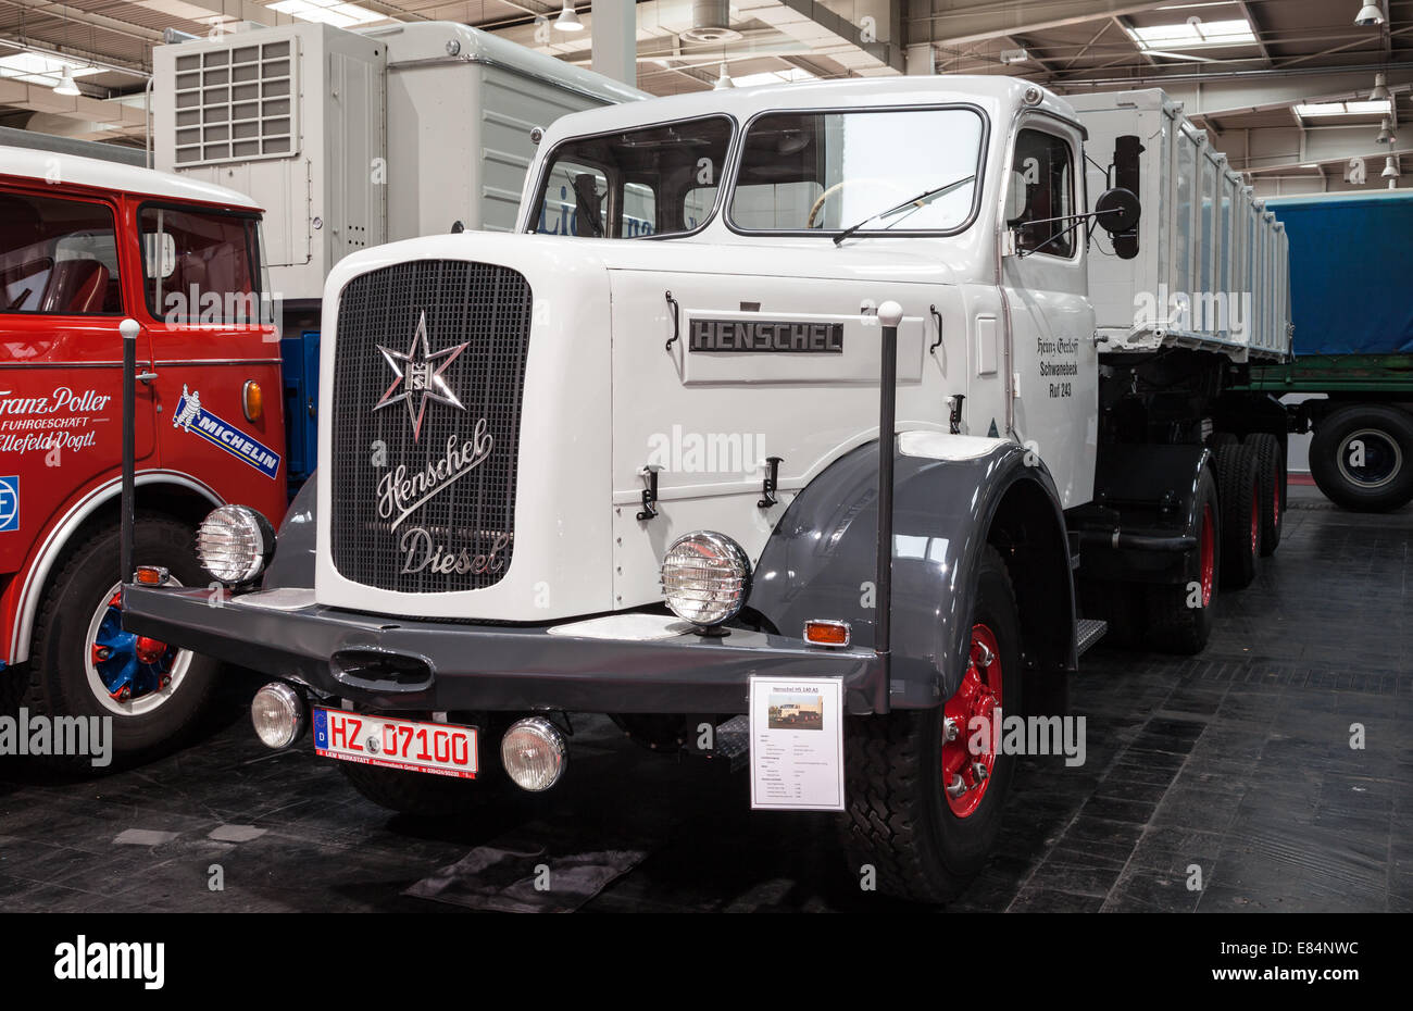
POLYGON ((297 40, 177 58, 177 164, 285 158, 295 148, 297 40))

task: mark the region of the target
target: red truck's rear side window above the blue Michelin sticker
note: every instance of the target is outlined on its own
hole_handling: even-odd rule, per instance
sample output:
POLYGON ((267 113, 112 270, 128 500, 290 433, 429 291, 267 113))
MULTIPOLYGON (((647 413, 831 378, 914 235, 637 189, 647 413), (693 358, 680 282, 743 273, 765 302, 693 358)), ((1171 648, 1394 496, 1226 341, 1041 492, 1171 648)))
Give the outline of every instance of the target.
POLYGON ((259 223, 219 211, 144 206, 143 287, 157 320, 261 321, 259 223))

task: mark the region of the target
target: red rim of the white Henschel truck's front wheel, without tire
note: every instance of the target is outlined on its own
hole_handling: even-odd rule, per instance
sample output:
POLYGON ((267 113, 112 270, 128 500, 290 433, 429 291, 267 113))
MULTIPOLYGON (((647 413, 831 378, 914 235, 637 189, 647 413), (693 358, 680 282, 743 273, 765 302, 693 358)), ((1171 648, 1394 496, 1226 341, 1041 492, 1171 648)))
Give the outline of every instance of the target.
MULTIPOLYGON (((988 728, 1000 718, 1000 645, 986 625, 972 625, 971 650, 961 686, 942 710, 942 786, 947 806, 957 817, 966 817, 981 805, 996 769, 993 735, 988 732, 978 754, 971 751, 971 721, 982 717, 988 728), (951 730, 952 740, 947 737, 951 730)), ((999 728, 998 728, 999 730, 999 728)))

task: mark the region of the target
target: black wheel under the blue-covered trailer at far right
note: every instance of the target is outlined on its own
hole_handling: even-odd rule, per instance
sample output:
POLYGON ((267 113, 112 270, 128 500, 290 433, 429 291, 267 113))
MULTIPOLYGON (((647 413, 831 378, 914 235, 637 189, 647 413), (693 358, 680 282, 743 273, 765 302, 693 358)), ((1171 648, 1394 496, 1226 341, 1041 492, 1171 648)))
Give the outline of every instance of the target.
POLYGON ((1413 417, 1388 404, 1337 407, 1316 421, 1310 474, 1331 502, 1386 512, 1413 499, 1413 417))

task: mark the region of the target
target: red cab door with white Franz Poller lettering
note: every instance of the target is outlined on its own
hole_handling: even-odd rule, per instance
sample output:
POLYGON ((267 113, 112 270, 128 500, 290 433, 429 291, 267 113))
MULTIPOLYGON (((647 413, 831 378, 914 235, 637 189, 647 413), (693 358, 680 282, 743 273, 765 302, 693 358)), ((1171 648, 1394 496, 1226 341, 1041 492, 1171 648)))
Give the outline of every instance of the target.
MULTIPOLYGON (((119 206, 59 187, 0 182, 0 571, 123 452, 129 314, 119 206)), ((138 338, 138 361, 151 358, 138 338)), ((137 460, 155 450, 153 392, 137 389, 137 460)))

